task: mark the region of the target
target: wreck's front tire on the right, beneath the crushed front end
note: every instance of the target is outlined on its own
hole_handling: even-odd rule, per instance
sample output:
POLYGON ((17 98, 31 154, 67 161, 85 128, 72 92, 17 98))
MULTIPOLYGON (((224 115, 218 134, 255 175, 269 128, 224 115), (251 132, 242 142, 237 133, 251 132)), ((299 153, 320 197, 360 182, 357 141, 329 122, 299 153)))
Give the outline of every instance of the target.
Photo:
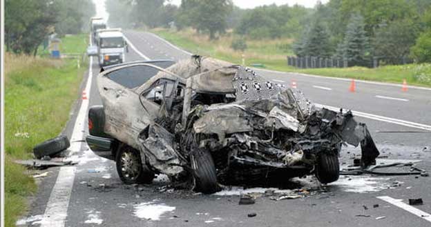
POLYGON ((320 183, 327 184, 338 180, 340 177, 340 163, 338 156, 321 152, 317 157, 316 177, 320 183))

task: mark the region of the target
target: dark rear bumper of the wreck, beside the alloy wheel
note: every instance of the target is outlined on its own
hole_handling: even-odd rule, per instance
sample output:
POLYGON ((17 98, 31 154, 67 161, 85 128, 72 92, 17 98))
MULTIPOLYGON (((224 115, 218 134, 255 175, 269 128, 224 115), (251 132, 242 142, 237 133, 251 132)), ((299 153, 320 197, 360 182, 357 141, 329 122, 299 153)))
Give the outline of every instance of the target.
POLYGON ((115 160, 115 148, 117 147, 117 141, 115 141, 115 139, 88 135, 86 141, 90 149, 96 155, 115 160))

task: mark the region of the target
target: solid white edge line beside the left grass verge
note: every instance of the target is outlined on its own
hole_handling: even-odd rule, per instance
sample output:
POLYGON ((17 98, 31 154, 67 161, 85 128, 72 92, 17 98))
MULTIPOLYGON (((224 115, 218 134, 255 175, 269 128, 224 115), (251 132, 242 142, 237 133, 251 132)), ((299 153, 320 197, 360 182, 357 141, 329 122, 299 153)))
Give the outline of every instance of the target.
MULTIPOLYGON (((93 80, 93 57, 90 57, 88 69, 88 79, 84 91, 86 92, 87 99, 83 99, 75 126, 73 128, 70 141, 75 141, 70 144, 70 155, 81 150, 82 139, 84 137, 84 123, 88 110, 90 99, 91 81, 93 80), (76 142, 79 141, 79 142, 76 142)), ((75 167, 61 167, 57 176, 57 181, 52 188, 48 204, 44 213, 44 219, 41 221, 41 227, 63 227, 66 222, 67 211, 69 206, 70 194, 72 193, 73 181, 75 179, 75 167)))

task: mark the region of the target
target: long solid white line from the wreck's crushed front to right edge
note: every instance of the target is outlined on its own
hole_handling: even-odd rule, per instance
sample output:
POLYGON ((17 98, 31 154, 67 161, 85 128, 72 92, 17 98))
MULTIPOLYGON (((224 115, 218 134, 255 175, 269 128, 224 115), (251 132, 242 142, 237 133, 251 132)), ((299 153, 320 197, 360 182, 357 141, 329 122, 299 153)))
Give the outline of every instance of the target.
MULTIPOLYGON (((333 110, 333 111, 337 111, 337 112, 340 111, 340 108, 334 107, 334 106, 327 106, 327 105, 318 104, 318 103, 315 103, 315 105, 318 108, 327 108, 329 110, 333 110)), ((412 121, 404 121, 404 120, 401 120, 401 119, 395 119, 395 118, 390 118, 390 117, 383 117, 383 116, 379 116, 379 115, 372 115, 372 114, 369 114, 369 113, 366 113, 366 112, 359 112, 359 111, 354 111, 354 110, 352 110, 352 113, 355 116, 358 116, 358 117, 365 117, 367 119, 373 119, 373 120, 376 120, 376 121, 384 121, 384 122, 388 122, 388 123, 392 123, 392 124, 397 124, 397 125, 400 125, 400 126, 407 126, 407 127, 410 127, 410 128, 419 128, 419 129, 422 129, 422 130, 431 131, 431 126, 425 125, 425 124, 415 123, 415 122, 412 122, 412 121)))

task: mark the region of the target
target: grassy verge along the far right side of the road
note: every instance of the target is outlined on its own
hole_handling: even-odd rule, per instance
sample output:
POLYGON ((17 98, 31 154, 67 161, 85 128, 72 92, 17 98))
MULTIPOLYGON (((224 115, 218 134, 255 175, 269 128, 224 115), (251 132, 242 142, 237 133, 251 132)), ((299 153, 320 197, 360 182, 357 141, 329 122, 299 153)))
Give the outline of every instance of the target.
POLYGON ((151 32, 160 35, 176 46, 198 55, 207 55, 230 61, 242 63, 242 54, 245 55, 245 64, 262 63, 265 68, 282 72, 301 72, 305 74, 321 75, 325 77, 343 77, 363 79, 368 81, 382 81, 390 83, 407 83, 416 86, 431 87, 431 64, 409 64, 404 66, 381 66, 379 68, 314 68, 299 69, 287 66, 287 55, 293 55, 292 40, 248 40, 247 50, 244 53, 230 48, 232 34, 227 34, 218 40, 210 41, 207 36, 196 34, 193 30, 173 32, 167 29, 153 29, 151 32))

